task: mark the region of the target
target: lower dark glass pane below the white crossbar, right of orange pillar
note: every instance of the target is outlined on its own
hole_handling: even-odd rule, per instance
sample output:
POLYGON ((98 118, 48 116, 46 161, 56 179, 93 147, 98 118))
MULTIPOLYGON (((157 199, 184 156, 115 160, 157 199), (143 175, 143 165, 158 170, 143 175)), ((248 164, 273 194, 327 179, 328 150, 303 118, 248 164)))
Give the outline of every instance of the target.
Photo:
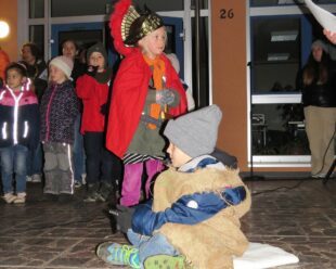
POLYGON ((255 104, 251 108, 254 155, 309 155, 300 103, 255 104))

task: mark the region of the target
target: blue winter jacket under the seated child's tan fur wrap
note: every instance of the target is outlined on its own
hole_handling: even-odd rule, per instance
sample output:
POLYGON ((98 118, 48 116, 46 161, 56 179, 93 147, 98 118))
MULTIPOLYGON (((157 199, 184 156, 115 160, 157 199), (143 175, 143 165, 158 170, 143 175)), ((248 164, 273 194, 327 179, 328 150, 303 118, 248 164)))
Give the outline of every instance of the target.
MULTIPOLYGON (((218 163, 212 157, 202 159, 196 168, 204 168, 218 163)), ((192 172, 194 169, 188 170, 192 172)), ((132 230, 144 235, 152 235, 167 222, 195 225, 211 218, 221 209, 237 205, 246 198, 244 187, 225 189, 221 195, 214 192, 194 193, 183 195, 165 212, 155 213, 152 210, 153 200, 137 206, 132 217, 132 230)))

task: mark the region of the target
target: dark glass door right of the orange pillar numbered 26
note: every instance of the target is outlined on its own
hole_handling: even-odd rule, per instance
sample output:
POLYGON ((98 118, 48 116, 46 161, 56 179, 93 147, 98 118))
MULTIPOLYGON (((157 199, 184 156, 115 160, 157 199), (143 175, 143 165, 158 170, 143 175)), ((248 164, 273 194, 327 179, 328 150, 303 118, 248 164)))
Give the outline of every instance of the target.
POLYGON ((301 67, 299 16, 251 20, 253 155, 307 155, 303 108, 296 77, 301 67))

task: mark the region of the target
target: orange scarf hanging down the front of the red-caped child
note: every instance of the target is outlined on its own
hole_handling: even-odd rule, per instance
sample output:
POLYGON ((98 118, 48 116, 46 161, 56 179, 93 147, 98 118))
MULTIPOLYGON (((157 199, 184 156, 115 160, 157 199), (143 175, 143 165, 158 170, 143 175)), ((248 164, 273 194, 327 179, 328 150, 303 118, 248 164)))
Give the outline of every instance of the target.
MULTIPOLYGON (((143 55, 144 61, 147 65, 153 66, 153 81, 154 88, 156 90, 161 90, 164 88, 163 81, 166 74, 165 62, 159 57, 155 57, 154 60, 143 55)), ((151 104, 150 115, 154 118, 159 118, 161 112, 161 107, 159 104, 151 104)), ((156 126, 153 124, 147 125, 150 129, 155 129, 156 126)))

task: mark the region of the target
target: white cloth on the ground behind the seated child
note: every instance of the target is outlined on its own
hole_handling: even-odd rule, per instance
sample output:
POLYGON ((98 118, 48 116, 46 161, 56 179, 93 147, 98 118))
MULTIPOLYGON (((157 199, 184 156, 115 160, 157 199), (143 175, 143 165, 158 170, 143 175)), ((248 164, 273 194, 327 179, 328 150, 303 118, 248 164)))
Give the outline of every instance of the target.
POLYGON ((297 264, 299 258, 284 249, 268 244, 249 243, 242 257, 234 257, 234 269, 266 269, 297 264))

